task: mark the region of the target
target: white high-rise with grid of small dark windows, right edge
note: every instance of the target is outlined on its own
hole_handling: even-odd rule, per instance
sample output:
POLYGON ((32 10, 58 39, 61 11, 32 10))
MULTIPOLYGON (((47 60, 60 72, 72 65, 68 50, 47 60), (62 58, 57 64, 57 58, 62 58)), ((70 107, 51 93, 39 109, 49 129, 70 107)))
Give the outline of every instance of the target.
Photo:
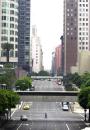
POLYGON ((90 0, 78 0, 78 51, 90 50, 90 0))

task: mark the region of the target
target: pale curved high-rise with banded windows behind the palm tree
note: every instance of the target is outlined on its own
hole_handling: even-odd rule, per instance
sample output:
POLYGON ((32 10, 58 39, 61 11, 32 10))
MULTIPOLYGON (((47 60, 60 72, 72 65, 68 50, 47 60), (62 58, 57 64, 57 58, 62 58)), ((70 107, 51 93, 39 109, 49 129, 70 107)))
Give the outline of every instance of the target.
POLYGON ((0 0, 0 64, 6 63, 6 50, 3 44, 12 44, 9 62, 18 62, 18 0, 0 0))

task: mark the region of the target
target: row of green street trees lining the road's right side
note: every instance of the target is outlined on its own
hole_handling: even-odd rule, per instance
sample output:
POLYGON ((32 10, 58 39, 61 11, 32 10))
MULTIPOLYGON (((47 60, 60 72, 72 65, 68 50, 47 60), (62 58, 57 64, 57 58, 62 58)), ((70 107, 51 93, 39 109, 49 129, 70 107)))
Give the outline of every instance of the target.
POLYGON ((78 102, 84 108, 85 111, 85 121, 86 121, 86 110, 89 109, 89 118, 90 122, 90 73, 84 73, 83 75, 68 74, 64 77, 64 85, 67 87, 72 84, 76 84, 76 86, 80 89, 80 93, 78 95, 78 102))

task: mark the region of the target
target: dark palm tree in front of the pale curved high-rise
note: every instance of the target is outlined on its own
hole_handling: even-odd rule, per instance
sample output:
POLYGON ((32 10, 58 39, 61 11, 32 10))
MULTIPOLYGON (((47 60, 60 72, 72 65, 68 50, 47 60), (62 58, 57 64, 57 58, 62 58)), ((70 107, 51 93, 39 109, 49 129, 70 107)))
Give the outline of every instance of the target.
POLYGON ((2 44, 2 49, 6 51, 6 58, 7 58, 7 63, 9 63, 9 52, 11 49, 13 49, 13 44, 10 43, 4 43, 2 44))

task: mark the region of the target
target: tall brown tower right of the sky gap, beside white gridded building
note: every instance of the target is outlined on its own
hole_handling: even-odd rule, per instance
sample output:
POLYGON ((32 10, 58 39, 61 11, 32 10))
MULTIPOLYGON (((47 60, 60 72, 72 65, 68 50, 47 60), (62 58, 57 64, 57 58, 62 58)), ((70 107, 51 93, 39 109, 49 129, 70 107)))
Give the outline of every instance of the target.
POLYGON ((64 0, 64 74, 77 63, 78 0, 64 0))

